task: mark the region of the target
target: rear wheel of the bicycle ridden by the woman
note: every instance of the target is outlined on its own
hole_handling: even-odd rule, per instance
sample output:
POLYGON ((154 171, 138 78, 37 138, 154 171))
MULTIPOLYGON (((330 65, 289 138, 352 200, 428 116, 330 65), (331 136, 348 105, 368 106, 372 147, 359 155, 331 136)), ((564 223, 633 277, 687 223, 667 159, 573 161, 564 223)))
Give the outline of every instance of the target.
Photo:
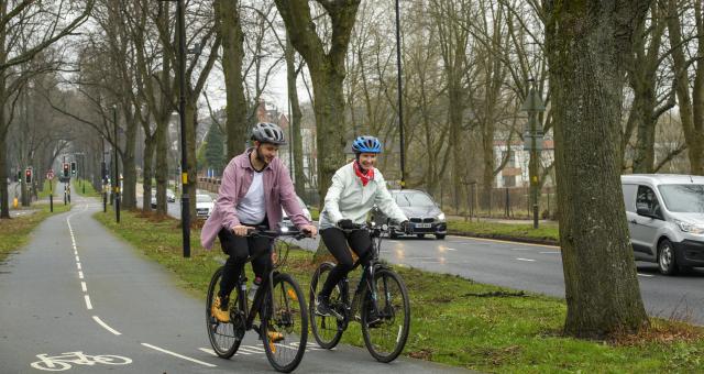
MULTIPOLYGON (((331 350, 338 345, 345 329, 344 321, 338 320, 334 316, 320 316, 316 312, 316 297, 318 293, 320 293, 320 289, 322 289, 322 285, 326 283, 333 266, 334 265, 329 262, 318 266, 316 274, 314 274, 310 280, 310 301, 308 302, 312 336, 316 338, 318 345, 327 350, 331 350)), ((332 294, 330 294, 330 308, 345 316, 346 311, 342 299, 342 288, 343 283, 340 282, 338 286, 332 289, 332 294)))

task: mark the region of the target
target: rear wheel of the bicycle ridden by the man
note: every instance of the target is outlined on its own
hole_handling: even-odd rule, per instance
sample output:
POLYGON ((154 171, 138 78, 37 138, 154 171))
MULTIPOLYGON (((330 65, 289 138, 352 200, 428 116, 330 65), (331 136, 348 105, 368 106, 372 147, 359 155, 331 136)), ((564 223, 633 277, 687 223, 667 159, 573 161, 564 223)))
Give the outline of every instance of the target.
POLYGON ((222 272, 223 267, 218 268, 210 279, 210 286, 208 286, 206 328, 210 345, 212 345, 216 354, 223 359, 230 359, 240 348, 242 337, 244 337, 244 320, 241 318, 237 297, 230 300, 230 322, 218 321, 210 311, 218 293, 218 284, 220 284, 222 272))

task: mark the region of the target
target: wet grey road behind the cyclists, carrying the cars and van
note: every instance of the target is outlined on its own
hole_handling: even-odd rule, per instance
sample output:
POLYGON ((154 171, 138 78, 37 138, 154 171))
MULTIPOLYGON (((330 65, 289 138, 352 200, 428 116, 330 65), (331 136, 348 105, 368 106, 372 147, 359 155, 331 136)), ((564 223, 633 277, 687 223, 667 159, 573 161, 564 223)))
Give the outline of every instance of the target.
MULTIPOLYGON (((169 215, 178 219, 179 213, 178 204, 169 204, 169 215)), ((446 240, 431 238, 386 240, 382 256, 395 264, 564 297, 559 248, 454 235, 446 240)), ((318 241, 306 240, 301 246, 315 250, 318 241)), ((704 324, 704 268, 662 276, 653 263, 638 262, 637 267, 640 292, 650 316, 704 324)))

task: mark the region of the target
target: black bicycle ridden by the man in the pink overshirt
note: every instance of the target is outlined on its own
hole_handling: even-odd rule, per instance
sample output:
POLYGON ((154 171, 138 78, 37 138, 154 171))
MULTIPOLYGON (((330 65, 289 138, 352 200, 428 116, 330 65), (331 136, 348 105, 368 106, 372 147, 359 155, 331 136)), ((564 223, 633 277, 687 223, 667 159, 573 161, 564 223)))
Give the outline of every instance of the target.
POLYGON ((275 252, 262 251, 250 255, 246 262, 270 254, 274 266, 254 295, 251 308, 248 310, 246 276, 241 272, 235 289, 237 297, 230 300, 230 322, 220 322, 211 315, 211 306, 217 294, 218 284, 224 266, 219 267, 210 279, 206 299, 206 324, 210 344, 218 356, 230 359, 240 348, 244 333, 255 330, 264 343, 266 358, 272 366, 283 373, 294 371, 302 360, 308 340, 308 315, 305 295, 298 283, 288 274, 280 273, 288 257, 290 243, 277 240, 279 237, 293 237, 300 240, 306 233, 297 231, 267 231, 255 229, 250 237, 265 237, 274 243, 275 252), (256 315, 260 326, 254 324, 256 315), (298 321, 298 319, 300 319, 298 321))

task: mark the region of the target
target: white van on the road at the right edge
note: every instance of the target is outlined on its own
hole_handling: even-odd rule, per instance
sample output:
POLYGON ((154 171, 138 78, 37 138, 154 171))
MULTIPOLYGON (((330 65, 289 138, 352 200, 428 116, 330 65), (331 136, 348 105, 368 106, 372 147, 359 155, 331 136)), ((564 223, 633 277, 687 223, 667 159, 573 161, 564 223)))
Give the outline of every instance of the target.
POLYGON ((634 174, 620 182, 636 260, 657 262, 666 275, 704 266, 704 177, 634 174))

